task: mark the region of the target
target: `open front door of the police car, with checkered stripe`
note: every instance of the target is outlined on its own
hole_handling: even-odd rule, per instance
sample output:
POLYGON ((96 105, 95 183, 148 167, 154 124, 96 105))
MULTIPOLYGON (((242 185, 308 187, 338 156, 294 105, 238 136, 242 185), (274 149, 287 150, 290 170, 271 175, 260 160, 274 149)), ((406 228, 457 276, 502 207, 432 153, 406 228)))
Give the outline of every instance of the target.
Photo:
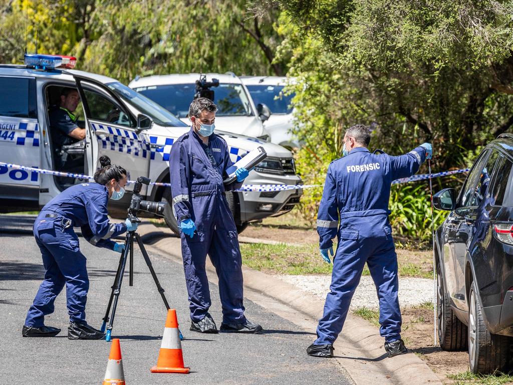
MULTIPOLYGON (((127 106, 103 83, 73 74, 84 106, 90 130, 92 172, 100 167, 98 159, 106 155, 112 164, 124 167, 129 179, 148 177, 150 141, 127 106)), ((88 159, 89 163, 90 160, 88 159)), ((133 184, 127 184, 128 191, 133 184)), ((143 185, 142 194, 146 194, 143 185)))

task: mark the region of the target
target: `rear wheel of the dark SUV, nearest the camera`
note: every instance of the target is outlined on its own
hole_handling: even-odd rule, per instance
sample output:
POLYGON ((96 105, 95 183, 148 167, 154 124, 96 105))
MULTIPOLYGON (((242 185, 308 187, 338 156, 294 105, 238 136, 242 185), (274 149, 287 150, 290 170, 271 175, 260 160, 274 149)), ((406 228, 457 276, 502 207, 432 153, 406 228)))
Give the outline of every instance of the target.
POLYGON ((481 306, 472 282, 468 300, 468 361, 472 373, 507 372, 511 337, 490 334, 484 323, 481 306))

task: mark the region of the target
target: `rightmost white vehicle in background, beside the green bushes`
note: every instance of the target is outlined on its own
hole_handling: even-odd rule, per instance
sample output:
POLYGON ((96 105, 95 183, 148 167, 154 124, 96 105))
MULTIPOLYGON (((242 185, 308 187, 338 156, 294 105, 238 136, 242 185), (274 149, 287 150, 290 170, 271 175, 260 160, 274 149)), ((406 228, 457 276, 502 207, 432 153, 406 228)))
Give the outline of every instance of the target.
POLYGON ((292 98, 294 94, 285 94, 283 88, 287 82, 284 76, 241 76, 255 105, 266 105, 271 115, 264 122, 269 132, 269 141, 286 148, 299 147, 299 142, 292 133, 294 128, 292 115, 292 98))

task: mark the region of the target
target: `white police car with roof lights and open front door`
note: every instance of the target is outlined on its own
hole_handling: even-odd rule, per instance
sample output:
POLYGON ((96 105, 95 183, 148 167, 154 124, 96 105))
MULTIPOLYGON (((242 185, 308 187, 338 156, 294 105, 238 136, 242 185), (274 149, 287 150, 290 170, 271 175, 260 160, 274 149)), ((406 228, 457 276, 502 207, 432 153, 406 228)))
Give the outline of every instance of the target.
MULTIPOLYGON (((169 152, 177 138, 189 130, 174 115, 144 95, 107 76, 74 70, 75 58, 58 55, 26 55, 25 65, 0 65, 0 162, 56 170, 58 157, 66 155, 77 168, 58 169, 92 176, 97 160, 108 156, 125 167, 131 179, 149 177, 169 183, 169 152), (49 114, 59 108, 66 88, 78 90, 81 103, 73 112, 85 139, 55 151, 52 137, 58 132, 49 114), (81 171, 81 172, 77 172, 81 171)), ((262 146, 268 158, 255 167, 246 184, 301 184, 290 151, 257 138, 216 131, 228 143, 233 161, 262 146)), ((0 164, 0 212, 39 208, 71 184, 83 180, 0 164)), ((119 201, 109 203, 109 214, 126 217, 132 185, 119 201)), ((143 185, 141 194, 151 201, 169 201, 168 187, 143 185)), ((300 189, 270 192, 234 192, 227 196, 238 229, 248 222, 277 216, 299 203, 300 189)), ((169 205, 168 205, 169 206, 169 205)), ((166 223, 177 230, 170 208, 166 223)), ((150 216, 141 213, 141 217, 150 216)))

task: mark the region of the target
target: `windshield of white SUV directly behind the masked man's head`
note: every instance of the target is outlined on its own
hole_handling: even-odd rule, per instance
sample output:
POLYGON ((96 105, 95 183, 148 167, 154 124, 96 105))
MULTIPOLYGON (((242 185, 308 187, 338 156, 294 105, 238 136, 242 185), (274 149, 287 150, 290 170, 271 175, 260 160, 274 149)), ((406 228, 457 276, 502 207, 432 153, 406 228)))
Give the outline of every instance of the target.
MULTIPOLYGON (((179 118, 186 118, 189 105, 194 98, 196 85, 170 84, 163 86, 136 87, 142 93, 179 118)), ((222 83, 219 87, 212 87, 214 103, 218 106, 217 117, 251 116, 253 111, 244 87, 241 84, 222 83)))

